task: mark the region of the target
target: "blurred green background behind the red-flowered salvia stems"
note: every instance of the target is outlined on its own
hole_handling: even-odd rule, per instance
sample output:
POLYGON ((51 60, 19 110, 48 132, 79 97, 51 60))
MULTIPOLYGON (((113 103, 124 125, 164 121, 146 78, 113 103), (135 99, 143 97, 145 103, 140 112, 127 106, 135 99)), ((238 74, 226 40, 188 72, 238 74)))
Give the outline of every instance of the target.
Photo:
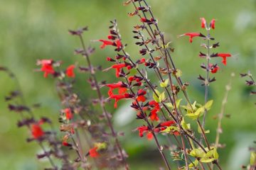
MULTIPOLYGON (((149 0, 149 4, 166 38, 173 42, 176 66, 183 71, 183 80, 191 84, 189 96, 199 103, 204 101, 203 87, 196 79, 199 73, 203 74, 199 66, 204 60, 198 57, 198 52, 203 51, 200 47, 203 41, 195 38, 190 44, 188 38, 177 38, 176 35, 198 31, 204 33, 199 18, 205 17, 208 21, 216 19, 212 34, 220 42, 217 50, 230 52, 233 57, 228 58, 227 67, 220 64, 220 72, 215 74, 218 81, 210 86, 210 98, 214 98, 215 102, 208 113, 206 129, 210 129, 211 135, 208 137, 213 142, 217 121, 212 117, 220 111, 225 84, 230 79, 230 73, 234 72, 225 110, 231 118, 223 119, 220 138, 220 143, 225 143, 227 147, 219 149, 219 152, 223 169, 240 169, 241 164, 249 162, 247 148, 256 140, 256 98, 249 95, 245 79, 239 77, 239 73, 249 69, 256 74, 256 1, 149 0)), ((53 79, 43 79, 41 73, 33 72, 36 60, 62 60, 65 66, 75 62, 85 64, 82 57, 73 55, 75 47, 79 47, 79 40, 69 35, 68 29, 89 26, 90 32, 85 34, 85 38, 90 42, 106 38, 109 21, 114 18, 119 23, 124 42, 129 44, 127 51, 132 57, 139 58, 131 31, 138 18, 127 16, 132 11, 132 6, 122 6, 122 0, 0 0, 0 65, 9 67, 17 75, 28 103, 42 104, 43 107, 36 112, 38 115, 58 120, 61 106, 55 82, 53 79)), ((114 55, 112 48, 100 50, 100 43, 93 43, 92 46, 97 49, 92 56, 95 64, 104 64, 105 57, 114 55)), ((220 59, 216 60, 220 63, 220 59)), ((92 96, 83 74, 77 74, 77 88, 84 96, 92 96)), ((105 74, 102 79, 116 81, 112 75, 105 74)), ((26 143, 28 132, 16 127, 18 115, 6 109, 4 96, 14 89, 14 83, 1 72, 0 89, 0 169, 43 169, 44 163, 35 156, 40 149, 34 142, 26 143)), ((119 109, 125 110, 115 111, 114 124, 125 132, 121 140, 129 154, 131 169, 158 169, 160 165, 164 166, 154 142, 147 142, 145 138, 139 138, 137 132, 132 132, 140 122, 127 111, 127 103, 119 106, 119 109)), ((58 124, 55 124, 55 128, 58 129, 58 124)))

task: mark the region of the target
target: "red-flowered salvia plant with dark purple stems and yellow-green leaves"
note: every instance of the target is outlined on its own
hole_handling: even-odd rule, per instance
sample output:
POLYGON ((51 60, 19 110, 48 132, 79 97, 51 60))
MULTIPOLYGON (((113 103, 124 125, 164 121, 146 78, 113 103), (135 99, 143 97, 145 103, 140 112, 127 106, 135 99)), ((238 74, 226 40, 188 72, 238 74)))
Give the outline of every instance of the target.
MULTIPOLYGON (((48 159, 51 167, 46 169, 129 169, 128 154, 119 141, 124 134, 114 129, 112 113, 108 111, 110 107, 118 108, 119 101, 125 100, 136 112, 139 124, 129 129, 137 132, 138 138, 154 141, 158 149, 156 154, 165 166, 163 169, 223 169, 220 162, 224 158, 218 155, 218 150, 224 147, 220 144, 221 123, 223 117, 228 116, 224 115, 225 106, 235 74, 230 76, 225 86, 220 113, 216 115, 215 141, 210 141, 206 120, 215 105, 208 95, 209 86, 215 86, 213 82, 218 81, 215 74, 220 68, 225 71, 228 60, 233 56, 229 52, 218 51, 220 42, 210 34, 215 30, 215 19, 206 21, 206 18, 200 18, 201 31, 178 35, 178 38, 188 37, 189 42, 203 41, 201 50, 198 50, 198 60, 202 61, 198 67, 203 71, 195 79, 198 77, 204 86, 205 96, 204 102, 198 103, 188 94, 189 83, 182 79, 183 72, 172 56, 174 48, 171 42, 166 41, 151 6, 146 0, 125 1, 124 6, 128 5, 134 7, 128 16, 137 18, 132 33, 135 45, 139 47, 139 59, 129 55, 121 36, 122 30, 119 31, 117 21, 113 20, 109 30, 105 30, 106 36, 95 38, 97 40, 83 38, 89 31, 87 27, 69 30, 70 35, 80 41, 75 55, 82 57, 84 63, 65 66, 65 63, 53 59, 36 62, 37 72, 43 72, 45 78, 55 79, 62 105, 58 131, 54 130, 50 119, 36 118, 33 110, 39 107, 38 104, 29 106, 16 76, 6 67, 0 67, 17 84, 17 89, 6 94, 5 100, 9 110, 21 116, 18 127, 27 128, 31 133, 27 141, 36 142, 41 147, 43 152, 37 157, 48 159), (115 52, 112 57, 106 55, 100 59, 107 61, 105 66, 92 62, 91 57, 95 55, 92 43, 100 45, 102 50, 110 48, 115 52), (221 66, 217 64, 218 60, 221 60, 221 66), (80 96, 79 90, 82 89, 74 87, 78 71, 87 77, 85 88, 90 87, 93 91, 87 99, 80 96), (112 74, 116 81, 100 79, 97 77, 99 72, 112 74), (163 135, 166 140, 159 140, 163 135)), ((240 75, 247 77, 248 86, 255 86, 250 72, 240 75)), ((255 91, 250 94, 255 94, 255 91)), ((250 165, 242 167, 256 169, 255 148, 250 148, 250 151, 250 165)))

